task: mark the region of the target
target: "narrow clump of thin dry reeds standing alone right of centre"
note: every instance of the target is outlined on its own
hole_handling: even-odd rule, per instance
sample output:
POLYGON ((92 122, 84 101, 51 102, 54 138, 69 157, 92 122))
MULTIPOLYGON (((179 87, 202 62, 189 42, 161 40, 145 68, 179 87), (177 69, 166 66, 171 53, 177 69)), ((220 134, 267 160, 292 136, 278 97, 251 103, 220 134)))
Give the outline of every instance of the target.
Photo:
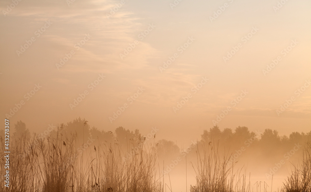
POLYGON ((234 173, 236 162, 230 162, 229 153, 221 157, 218 146, 216 143, 203 145, 203 150, 197 148, 197 162, 192 163, 196 172, 196 185, 191 186, 191 192, 250 191, 245 169, 241 168, 234 173))

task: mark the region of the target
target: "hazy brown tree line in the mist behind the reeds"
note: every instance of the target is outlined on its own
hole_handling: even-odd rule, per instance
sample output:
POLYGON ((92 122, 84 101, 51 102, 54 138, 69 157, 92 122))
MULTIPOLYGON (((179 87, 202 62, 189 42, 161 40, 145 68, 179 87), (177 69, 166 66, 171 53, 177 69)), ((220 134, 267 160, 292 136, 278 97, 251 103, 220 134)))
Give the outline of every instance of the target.
MULTIPOLYGON (((44 135, 53 137, 57 135, 57 132, 72 136, 75 135, 80 144, 87 143, 90 145, 92 143, 92 145, 98 145, 102 143, 118 143, 119 146, 127 149, 129 146, 137 146, 144 139, 138 129, 130 131, 124 127, 117 127, 114 132, 105 131, 96 127, 91 128, 88 122, 82 118, 76 118, 71 122, 67 122, 67 124, 60 124, 54 127, 54 129, 49 130, 49 134, 44 135)), ((44 131, 46 132, 46 130, 44 131)), ((1 130, 1 132, 4 135, 4 130, 1 130)), ((41 135, 43 134, 41 133, 41 135)), ((30 138, 31 133, 26 128, 24 122, 18 121, 15 124, 13 137, 18 138, 22 136, 30 138)), ((234 130, 231 128, 221 130, 216 125, 209 130, 203 130, 201 139, 197 141, 197 146, 193 148, 214 146, 216 143, 217 147, 225 151, 234 153, 235 151, 249 148, 251 150, 248 150, 248 154, 251 151, 256 151, 261 157, 269 157, 271 159, 271 156, 281 156, 287 151, 290 151, 295 144, 303 145, 310 139, 311 130, 310 132, 292 132, 289 136, 280 136, 277 130, 270 128, 264 129, 263 132, 260 130, 250 131, 245 126, 236 127, 234 130)), ((158 140, 156 143, 160 158, 174 158, 174 156, 186 150, 177 146, 175 142, 165 139, 158 140)), ((194 154, 194 151, 190 151, 190 154, 194 154)))

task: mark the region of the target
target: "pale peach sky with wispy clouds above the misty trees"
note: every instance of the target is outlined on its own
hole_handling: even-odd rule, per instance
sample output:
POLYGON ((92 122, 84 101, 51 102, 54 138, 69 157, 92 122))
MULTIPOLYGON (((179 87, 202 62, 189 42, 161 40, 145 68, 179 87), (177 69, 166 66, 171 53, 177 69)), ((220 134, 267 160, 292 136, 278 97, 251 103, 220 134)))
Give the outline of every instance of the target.
POLYGON ((35 132, 78 117, 105 131, 156 127, 189 145, 214 125, 309 132, 310 9, 307 0, 1 0, 0 115, 35 132))

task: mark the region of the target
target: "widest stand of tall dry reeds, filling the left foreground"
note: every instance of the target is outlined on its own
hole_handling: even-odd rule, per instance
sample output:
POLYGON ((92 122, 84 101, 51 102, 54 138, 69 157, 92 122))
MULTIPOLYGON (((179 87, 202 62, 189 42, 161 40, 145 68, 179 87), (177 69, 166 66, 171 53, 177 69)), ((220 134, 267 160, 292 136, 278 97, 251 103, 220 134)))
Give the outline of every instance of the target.
MULTIPOLYGON (((2 138, 1 144, 4 151, 2 138)), ((141 138, 136 146, 132 143, 123 151, 117 140, 97 147, 79 146, 76 134, 21 137, 10 145, 10 188, 1 185, 0 191, 161 192, 153 145, 141 138)), ((2 165, 3 157, 4 153, 2 165)), ((1 166, 1 175, 4 171, 1 166)))

